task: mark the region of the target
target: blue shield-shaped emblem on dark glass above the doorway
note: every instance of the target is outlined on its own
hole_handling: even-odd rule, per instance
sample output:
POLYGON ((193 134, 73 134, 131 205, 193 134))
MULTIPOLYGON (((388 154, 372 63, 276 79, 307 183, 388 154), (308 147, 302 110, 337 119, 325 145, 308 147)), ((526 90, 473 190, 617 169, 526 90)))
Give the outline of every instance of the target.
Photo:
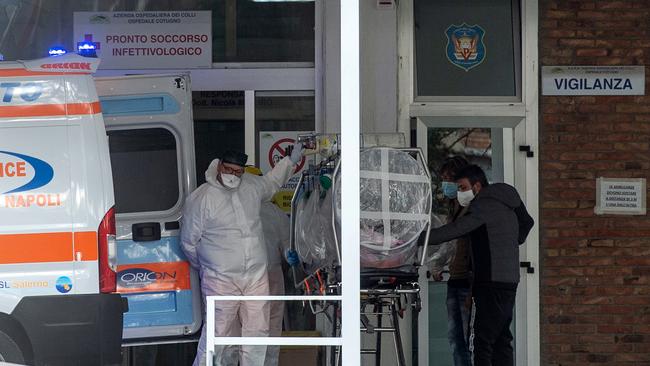
POLYGON ((474 24, 450 25, 447 35, 447 59, 465 71, 478 66, 485 60, 485 30, 474 24))

